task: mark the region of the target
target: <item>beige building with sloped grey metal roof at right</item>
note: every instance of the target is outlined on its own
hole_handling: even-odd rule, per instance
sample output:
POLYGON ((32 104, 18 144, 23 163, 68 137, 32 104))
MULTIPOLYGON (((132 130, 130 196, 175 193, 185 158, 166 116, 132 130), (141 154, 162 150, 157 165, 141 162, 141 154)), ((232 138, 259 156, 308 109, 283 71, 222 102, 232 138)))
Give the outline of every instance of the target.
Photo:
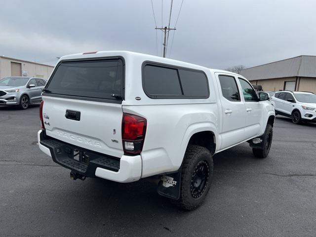
POLYGON ((316 56, 301 55, 240 72, 263 90, 311 91, 316 93, 316 56))

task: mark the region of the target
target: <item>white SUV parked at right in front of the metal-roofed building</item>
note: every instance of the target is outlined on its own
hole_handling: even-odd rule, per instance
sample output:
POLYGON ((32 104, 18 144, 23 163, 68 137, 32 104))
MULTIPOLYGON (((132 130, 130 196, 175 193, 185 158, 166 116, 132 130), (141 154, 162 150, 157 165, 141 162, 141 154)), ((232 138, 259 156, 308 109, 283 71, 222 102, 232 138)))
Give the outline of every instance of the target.
POLYGON ((271 98, 276 114, 301 121, 316 122, 316 95, 312 92, 277 91, 271 98))

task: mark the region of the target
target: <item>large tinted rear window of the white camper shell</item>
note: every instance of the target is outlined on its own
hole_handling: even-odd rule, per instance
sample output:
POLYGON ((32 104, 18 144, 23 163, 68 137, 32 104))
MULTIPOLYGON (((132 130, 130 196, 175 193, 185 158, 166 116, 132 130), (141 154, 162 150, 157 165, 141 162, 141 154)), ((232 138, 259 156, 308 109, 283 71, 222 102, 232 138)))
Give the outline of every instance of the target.
POLYGON ((123 98, 121 59, 62 62, 48 82, 49 93, 100 99, 123 98))

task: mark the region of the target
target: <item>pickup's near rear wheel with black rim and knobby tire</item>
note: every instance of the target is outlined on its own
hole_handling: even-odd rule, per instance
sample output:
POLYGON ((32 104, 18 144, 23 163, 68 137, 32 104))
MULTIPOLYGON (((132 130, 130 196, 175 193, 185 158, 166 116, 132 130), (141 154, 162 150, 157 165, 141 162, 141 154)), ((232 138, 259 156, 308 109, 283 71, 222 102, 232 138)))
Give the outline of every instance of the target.
POLYGON ((185 210, 197 208, 205 199, 213 175, 213 158, 204 147, 189 145, 181 171, 180 198, 175 203, 185 210))

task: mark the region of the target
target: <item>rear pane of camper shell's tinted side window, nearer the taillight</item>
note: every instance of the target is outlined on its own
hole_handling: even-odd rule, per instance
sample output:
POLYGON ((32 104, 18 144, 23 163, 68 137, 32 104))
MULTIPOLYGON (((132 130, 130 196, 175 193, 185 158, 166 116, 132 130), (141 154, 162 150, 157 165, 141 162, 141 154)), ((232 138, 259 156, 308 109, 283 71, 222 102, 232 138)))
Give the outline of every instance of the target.
POLYGON ((176 69, 146 65, 144 87, 150 95, 182 95, 176 69))

